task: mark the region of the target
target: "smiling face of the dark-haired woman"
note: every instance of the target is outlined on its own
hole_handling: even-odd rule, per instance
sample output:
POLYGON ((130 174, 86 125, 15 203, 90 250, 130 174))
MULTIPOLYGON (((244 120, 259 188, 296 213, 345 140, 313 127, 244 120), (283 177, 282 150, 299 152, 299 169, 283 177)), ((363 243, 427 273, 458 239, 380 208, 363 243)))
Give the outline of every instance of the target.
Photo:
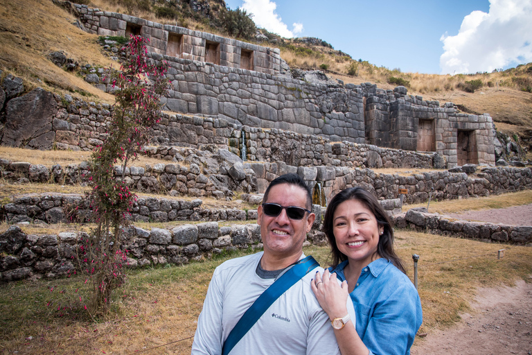
POLYGON ((361 267, 379 258, 376 252, 382 231, 384 227, 378 225, 373 212, 359 200, 345 200, 332 216, 337 248, 349 263, 359 263, 361 267))

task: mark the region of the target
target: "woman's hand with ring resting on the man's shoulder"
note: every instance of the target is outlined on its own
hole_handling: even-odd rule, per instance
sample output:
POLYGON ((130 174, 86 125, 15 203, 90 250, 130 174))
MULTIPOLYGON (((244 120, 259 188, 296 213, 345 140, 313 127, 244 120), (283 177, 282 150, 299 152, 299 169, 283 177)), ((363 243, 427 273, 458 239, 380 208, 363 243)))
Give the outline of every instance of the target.
POLYGON ((323 275, 317 272, 316 277, 310 281, 310 288, 330 319, 342 318, 347 314, 346 302, 349 296, 347 282, 344 281, 340 285, 336 272, 331 274, 328 269, 323 275))

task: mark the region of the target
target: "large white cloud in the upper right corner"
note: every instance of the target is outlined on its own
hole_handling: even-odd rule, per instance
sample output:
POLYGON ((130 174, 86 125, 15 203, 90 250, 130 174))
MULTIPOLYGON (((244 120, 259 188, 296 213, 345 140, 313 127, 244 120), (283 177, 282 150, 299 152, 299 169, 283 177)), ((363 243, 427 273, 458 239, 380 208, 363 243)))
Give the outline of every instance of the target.
POLYGON ((493 71, 532 62, 532 0, 490 0, 465 16, 458 35, 441 36, 441 73, 493 71))

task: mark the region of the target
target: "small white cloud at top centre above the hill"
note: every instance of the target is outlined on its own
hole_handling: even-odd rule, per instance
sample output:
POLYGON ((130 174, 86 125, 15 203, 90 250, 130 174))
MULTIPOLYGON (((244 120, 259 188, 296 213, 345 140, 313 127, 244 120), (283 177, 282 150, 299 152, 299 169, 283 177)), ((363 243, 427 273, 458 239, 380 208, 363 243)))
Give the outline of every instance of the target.
POLYGON ((244 0, 240 8, 253 14, 253 21, 258 27, 266 28, 269 32, 277 33, 283 37, 292 38, 294 33, 303 31, 303 24, 294 24, 294 31, 290 31, 283 23, 281 16, 276 14, 277 4, 269 0, 244 0))

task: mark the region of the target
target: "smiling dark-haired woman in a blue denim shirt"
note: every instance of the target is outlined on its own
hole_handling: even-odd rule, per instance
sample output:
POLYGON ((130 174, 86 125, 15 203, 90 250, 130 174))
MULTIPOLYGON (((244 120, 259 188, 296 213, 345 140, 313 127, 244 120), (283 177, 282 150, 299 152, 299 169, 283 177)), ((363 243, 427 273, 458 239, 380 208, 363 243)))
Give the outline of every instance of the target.
POLYGON ((393 250, 391 223, 378 200, 361 187, 339 192, 327 207, 323 232, 332 267, 318 273, 311 287, 342 355, 409 354, 423 318, 421 302, 393 250), (348 296, 356 320, 349 319, 348 296))

